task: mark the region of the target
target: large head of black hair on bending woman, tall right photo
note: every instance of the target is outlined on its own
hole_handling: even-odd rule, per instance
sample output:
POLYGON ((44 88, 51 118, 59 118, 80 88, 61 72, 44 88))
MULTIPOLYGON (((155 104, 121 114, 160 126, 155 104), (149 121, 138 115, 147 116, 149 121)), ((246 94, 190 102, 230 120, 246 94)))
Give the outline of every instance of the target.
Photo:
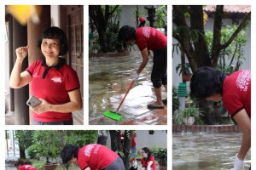
POLYGON ((190 96, 195 99, 206 99, 214 94, 222 94, 225 77, 224 72, 216 68, 199 68, 190 80, 190 96))

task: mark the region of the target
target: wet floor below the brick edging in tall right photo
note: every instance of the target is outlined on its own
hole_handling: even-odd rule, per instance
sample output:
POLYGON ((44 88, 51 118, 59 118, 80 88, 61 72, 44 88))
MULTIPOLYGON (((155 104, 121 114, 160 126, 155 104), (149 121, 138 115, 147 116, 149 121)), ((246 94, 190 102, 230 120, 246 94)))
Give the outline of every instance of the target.
MULTIPOLYGON (((230 170, 241 145, 242 133, 173 133, 173 170, 230 170)), ((245 170, 251 165, 251 151, 245 170)))

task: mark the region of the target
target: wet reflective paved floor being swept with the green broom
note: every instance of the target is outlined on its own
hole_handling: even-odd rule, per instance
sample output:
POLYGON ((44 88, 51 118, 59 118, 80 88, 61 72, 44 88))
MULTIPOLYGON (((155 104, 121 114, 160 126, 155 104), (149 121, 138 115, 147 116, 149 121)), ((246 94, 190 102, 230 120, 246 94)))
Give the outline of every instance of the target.
MULTIPOLYGON (((116 122, 102 116, 104 111, 116 111, 121 99, 129 88, 133 73, 142 62, 139 51, 131 51, 131 54, 117 57, 91 57, 89 59, 89 124, 134 124, 136 118, 148 114, 146 124, 153 124, 159 120, 150 111, 147 105, 155 100, 154 88, 150 81, 152 59, 144 68, 137 83, 126 96, 119 113, 123 116, 122 121, 116 122)), ((166 97, 163 88, 163 98, 166 97)), ((164 109, 163 111, 166 111, 164 109)), ((142 118, 143 119, 143 118, 142 118)))

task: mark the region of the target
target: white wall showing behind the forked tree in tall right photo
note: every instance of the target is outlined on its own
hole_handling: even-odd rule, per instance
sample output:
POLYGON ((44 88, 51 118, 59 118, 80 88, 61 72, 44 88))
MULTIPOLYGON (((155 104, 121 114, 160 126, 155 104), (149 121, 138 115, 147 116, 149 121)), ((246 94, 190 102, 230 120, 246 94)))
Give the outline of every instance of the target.
MULTIPOLYGON (((228 26, 232 24, 232 21, 223 20, 223 23, 224 23, 224 26, 228 26)), ((207 24, 205 26, 205 30, 212 31, 212 28, 213 28, 213 19, 208 19, 207 24)), ((174 38, 172 38, 172 43, 177 43, 177 41, 174 38)), ((172 47, 172 46, 169 45, 169 47, 172 47)), ((242 60, 243 63, 241 65, 241 69, 251 69, 251 22, 249 22, 249 25, 248 25, 247 45, 244 49, 245 49, 244 57, 246 60, 242 60)), ((174 53, 172 58, 172 85, 175 86, 176 88, 178 83, 182 82, 182 77, 178 76, 176 72, 176 66, 181 62, 179 54, 174 53)), ((189 86, 189 83, 187 83, 187 85, 189 86)))

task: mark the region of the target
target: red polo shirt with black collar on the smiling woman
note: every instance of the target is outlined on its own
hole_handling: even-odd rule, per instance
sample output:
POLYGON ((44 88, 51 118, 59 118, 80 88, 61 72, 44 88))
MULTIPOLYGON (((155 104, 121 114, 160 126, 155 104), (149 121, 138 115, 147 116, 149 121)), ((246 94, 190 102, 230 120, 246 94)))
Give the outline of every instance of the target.
MULTIPOLYGON (((32 75, 32 95, 45 99, 49 104, 61 105, 70 101, 68 92, 80 88, 79 77, 63 59, 58 65, 46 70, 45 60, 38 60, 26 68, 32 75)), ((33 113, 38 122, 61 122, 72 119, 72 113, 47 111, 41 114, 33 113)))

